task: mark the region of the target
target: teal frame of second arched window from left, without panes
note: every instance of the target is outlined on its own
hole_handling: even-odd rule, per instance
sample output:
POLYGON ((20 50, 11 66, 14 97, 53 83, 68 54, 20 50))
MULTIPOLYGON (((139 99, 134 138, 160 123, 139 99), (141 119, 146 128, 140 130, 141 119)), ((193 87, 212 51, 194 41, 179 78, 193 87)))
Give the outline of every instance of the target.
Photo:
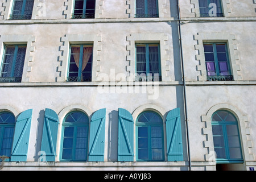
POLYGON ((65 115, 65 118, 63 119, 63 123, 61 126, 61 140, 60 140, 60 162, 87 162, 88 161, 88 152, 89 152, 89 130, 90 130, 90 119, 87 114, 85 114, 82 111, 71 111, 65 115), (73 113, 81 113, 84 114, 88 118, 88 123, 71 123, 71 122, 65 122, 67 117, 73 113), (72 140, 72 159, 63 159, 63 142, 64 142, 64 131, 65 127, 74 127, 73 129, 73 140, 72 140), (86 156, 85 160, 75 160, 75 154, 76 154, 76 139, 77 139, 77 127, 87 127, 87 146, 86 146, 86 156))

